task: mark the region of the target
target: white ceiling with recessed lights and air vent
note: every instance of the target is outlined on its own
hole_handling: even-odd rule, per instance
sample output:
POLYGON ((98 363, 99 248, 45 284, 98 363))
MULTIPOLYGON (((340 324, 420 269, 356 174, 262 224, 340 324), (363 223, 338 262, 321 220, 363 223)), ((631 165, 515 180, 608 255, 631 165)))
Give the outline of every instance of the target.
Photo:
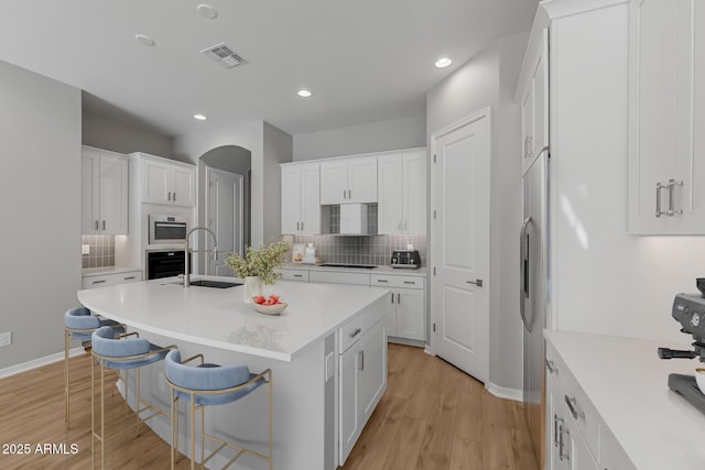
POLYGON ((248 120, 295 135, 424 114, 425 92, 528 31, 538 0, 207 1, 215 20, 199 3, 0 0, 0 59, 82 88, 89 112, 167 135, 248 120), (225 69, 200 54, 219 43, 249 63, 225 69), (436 69, 444 55, 453 65, 436 69))

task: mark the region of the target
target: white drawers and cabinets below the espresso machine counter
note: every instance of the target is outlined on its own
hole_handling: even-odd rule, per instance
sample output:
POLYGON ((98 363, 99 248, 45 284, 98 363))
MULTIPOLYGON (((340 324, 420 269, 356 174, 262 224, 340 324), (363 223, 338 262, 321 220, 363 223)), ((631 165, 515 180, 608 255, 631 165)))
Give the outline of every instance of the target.
POLYGON ((579 383, 546 345, 546 469, 633 470, 579 383))

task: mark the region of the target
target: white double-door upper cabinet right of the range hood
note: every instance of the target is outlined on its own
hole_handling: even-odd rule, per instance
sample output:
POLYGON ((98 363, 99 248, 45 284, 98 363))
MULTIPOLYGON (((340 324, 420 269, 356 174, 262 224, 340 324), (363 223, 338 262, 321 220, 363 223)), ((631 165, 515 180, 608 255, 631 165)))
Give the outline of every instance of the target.
POLYGON ((378 233, 426 232, 426 151, 380 155, 378 233))

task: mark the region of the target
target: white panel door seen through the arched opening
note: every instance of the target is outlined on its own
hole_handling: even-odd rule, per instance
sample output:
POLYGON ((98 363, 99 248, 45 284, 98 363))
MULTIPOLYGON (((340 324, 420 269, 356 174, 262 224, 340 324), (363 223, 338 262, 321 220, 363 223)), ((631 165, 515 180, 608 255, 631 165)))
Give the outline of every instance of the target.
MULTIPOLYGON (((218 251, 235 252, 242 255, 242 176, 221 170, 206 168, 208 177, 206 220, 208 228, 216 234, 218 251)), ((213 250, 213 239, 205 236, 206 250, 213 250)), ((214 260, 204 253, 206 273, 217 276, 231 276, 225 264, 225 255, 214 260)))

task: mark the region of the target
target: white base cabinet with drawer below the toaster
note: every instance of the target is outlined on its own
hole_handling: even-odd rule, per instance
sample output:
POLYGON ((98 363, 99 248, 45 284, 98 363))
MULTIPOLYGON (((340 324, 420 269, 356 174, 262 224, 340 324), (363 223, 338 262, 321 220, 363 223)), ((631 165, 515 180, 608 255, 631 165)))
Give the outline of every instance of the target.
POLYGON ((423 341, 425 334, 424 281, 421 276, 372 274, 372 286, 391 289, 387 303, 387 335, 423 341))

